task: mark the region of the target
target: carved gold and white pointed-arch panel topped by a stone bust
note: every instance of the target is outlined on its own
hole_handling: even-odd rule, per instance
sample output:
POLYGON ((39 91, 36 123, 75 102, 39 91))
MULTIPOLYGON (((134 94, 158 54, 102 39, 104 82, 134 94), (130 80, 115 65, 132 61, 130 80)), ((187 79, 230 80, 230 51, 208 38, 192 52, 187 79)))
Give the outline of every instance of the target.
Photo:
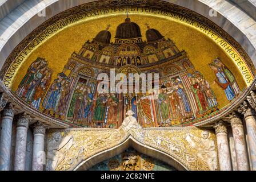
POLYGON ((46 169, 74 170, 127 139, 171 156, 186 169, 218 170, 215 135, 195 127, 144 130, 132 116, 125 118, 119 129, 51 130, 47 134, 46 169))

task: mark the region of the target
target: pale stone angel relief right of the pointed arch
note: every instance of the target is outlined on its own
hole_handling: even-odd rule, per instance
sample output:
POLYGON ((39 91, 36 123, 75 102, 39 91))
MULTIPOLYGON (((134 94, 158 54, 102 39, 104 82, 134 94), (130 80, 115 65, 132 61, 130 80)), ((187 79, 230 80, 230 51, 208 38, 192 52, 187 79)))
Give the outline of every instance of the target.
POLYGON ((186 140, 192 148, 197 150, 198 158, 207 163, 211 171, 215 171, 218 166, 214 140, 209 139, 208 131, 202 131, 201 135, 202 137, 196 137, 193 134, 187 134, 186 140))

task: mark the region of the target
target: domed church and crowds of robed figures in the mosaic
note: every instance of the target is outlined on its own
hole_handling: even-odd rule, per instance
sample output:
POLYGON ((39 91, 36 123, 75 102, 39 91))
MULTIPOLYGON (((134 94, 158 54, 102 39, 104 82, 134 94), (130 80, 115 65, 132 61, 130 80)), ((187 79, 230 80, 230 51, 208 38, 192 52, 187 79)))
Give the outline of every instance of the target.
MULTIPOLYGON (((38 57, 19 83, 18 96, 45 114, 83 127, 118 128, 127 110, 134 111, 143 127, 191 125, 219 111, 209 82, 171 39, 128 15, 116 28, 114 43, 109 28, 114 27, 107 25, 73 52, 57 78, 51 76, 47 60, 38 57), (140 26, 147 27, 146 40, 140 26), (109 74, 110 68, 125 74, 158 73, 158 99, 150 100, 152 93, 98 93, 97 75, 109 74)), ((240 92, 233 73, 219 58, 209 67, 231 102, 240 92)))

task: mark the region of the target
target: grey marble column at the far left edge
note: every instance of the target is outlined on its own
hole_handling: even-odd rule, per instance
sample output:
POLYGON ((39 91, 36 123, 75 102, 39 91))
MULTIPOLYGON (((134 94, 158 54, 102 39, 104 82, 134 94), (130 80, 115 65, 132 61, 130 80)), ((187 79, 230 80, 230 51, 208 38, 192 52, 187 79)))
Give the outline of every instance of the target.
POLYGON ((13 126, 13 105, 8 103, 2 110, 0 136, 0 171, 10 170, 11 130, 13 126))

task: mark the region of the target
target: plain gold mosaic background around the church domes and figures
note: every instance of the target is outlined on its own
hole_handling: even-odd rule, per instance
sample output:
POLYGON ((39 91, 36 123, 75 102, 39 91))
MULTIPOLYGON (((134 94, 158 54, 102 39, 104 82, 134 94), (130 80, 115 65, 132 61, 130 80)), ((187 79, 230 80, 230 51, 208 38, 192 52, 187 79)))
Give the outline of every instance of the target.
MULTIPOLYGON (((53 81, 57 74, 62 72, 71 53, 78 52, 87 40, 92 40, 99 31, 105 30, 108 24, 111 26, 109 29, 111 42, 114 42, 115 30, 120 23, 124 22, 125 18, 126 14, 124 13, 122 15, 98 16, 97 18, 80 21, 72 24, 72 26, 63 28, 62 31, 51 36, 30 53, 18 69, 17 76, 13 79, 10 88, 17 90, 19 82, 26 74, 27 68, 37 57, 45 58, 49 63, 49 68, 54 70, 53 81)), ((229 104, 229 101, 227 101, 223 90, 217 84, 214 84, 215 75, 208 65, 213 59, 220 57, 236 77, 240 89, 242 90, 246 87, 246 83, 233 60, 212 39, 202 34, 198 29, 161 16, 130 14, 129 18, 141 28, 143 40, 146 40, 147 26, 145 24, 148 23, 150 28, 157 29, 166 39, 173 40, 180 51, 185 50, 195 69, 200 71, 209 81, 218 98, 219 108, 229 104)))

